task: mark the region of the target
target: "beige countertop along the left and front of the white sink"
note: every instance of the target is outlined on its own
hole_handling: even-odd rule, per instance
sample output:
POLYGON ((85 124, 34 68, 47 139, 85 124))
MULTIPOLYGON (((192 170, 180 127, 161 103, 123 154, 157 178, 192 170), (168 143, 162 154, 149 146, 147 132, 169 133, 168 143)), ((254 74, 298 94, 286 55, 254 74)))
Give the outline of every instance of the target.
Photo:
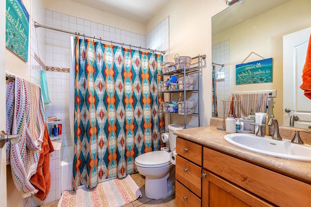
POLYGON ((174 131, 174 134, 208 148, 224 152, 233 157, 241 158, 269 170, 311 184, 311 162, 276 158, 242 149, 226 142, 224 135, 227 133, 218 130, 215 126, 181 129, 174 131))

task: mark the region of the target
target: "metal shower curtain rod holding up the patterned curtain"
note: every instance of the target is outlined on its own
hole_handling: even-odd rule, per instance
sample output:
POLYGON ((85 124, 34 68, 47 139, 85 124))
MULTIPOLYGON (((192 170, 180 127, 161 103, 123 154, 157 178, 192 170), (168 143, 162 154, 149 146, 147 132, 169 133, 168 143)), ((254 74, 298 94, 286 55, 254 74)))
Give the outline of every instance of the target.
POLYGON ((112 40, 104 40, 101 37, 100 38, 96 38, 95 36, 91 37, 91 36, 88 36, 88 35, 85 35, 85 34, 82 35, 82 34, 77 33, 77 32, 70 32, 70 31, 66 31, 66 30, 62 30, 62 29, 57 29, 57 28, 54 28, 54 27, 45 26, 45 25, 39 24, 36 21, 34 21, 34 24, 35 24, 35 28, 42 27, 42 28, 45 28, 45 29, 55 30, 55 31, 58 31, 58 32, 65 32, 65 33, 69 33, 69 34, 74 34, 76 36, 78 35, 78 36, 83 36, 83 37, 87 37, 87 38, 91 38, 91 39, 96 39, 96 40, 99 40, 99 41, 110 42, 111 44, 115 43, 115 44, 118 44, 118 45, 121 45, 121 46, 126 45, 126 46, 129 46, 130 48, 133 47, 133 48, 145 49, 145 50, 149 50, 149 51, 153 51, 153 52, 160 52, 162 54, 165 54, 165 51, 159 51, 159 50, 150 49, 150 48, 142 48, 142 47, 134 46, 134 45, 131 45, 131 44, 115 42, 115 41, 112 41, 112 40))

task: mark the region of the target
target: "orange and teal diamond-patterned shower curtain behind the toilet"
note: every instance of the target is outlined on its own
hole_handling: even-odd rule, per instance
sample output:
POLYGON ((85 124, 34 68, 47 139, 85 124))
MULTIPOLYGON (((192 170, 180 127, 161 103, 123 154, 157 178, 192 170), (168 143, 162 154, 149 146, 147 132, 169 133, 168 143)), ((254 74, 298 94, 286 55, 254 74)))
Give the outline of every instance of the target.
POLYGON ((159 54, 76 38, 74 190, 125 177, 138 155, 158 149, 161 62, 159 54))

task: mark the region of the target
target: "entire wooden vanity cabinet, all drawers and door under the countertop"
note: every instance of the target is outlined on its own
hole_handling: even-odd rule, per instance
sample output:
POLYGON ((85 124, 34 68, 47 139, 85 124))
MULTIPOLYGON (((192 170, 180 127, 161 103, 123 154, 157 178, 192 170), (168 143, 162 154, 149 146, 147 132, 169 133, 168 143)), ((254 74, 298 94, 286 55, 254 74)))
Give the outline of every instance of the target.
POLYGON ((311 207, 311 185, 177 137, 178 207, 311 207))

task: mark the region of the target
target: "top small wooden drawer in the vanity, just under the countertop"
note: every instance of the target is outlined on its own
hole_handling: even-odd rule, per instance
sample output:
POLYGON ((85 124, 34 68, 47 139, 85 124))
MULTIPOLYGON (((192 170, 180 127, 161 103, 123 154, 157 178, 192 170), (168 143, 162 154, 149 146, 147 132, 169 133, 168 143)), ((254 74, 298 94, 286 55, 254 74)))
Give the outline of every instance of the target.
POLYGON ((203 147, 196 143, 191 143, 187 140, 177 137, 176 139, 176 153, 192 162, 202 165, 202 151, 203 147))

